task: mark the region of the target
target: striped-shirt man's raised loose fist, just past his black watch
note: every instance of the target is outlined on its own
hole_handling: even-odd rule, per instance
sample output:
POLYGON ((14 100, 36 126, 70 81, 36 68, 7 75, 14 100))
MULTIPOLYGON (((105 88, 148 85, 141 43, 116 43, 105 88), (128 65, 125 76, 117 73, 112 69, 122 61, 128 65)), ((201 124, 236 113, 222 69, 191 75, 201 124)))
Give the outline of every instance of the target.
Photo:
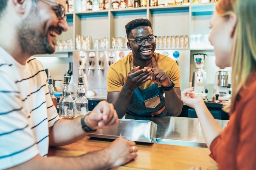
POLYGON ((118 123, 118 116, 113 104, 101 101, 85 116, 85 123, 90 129, 106 129, 118 123))

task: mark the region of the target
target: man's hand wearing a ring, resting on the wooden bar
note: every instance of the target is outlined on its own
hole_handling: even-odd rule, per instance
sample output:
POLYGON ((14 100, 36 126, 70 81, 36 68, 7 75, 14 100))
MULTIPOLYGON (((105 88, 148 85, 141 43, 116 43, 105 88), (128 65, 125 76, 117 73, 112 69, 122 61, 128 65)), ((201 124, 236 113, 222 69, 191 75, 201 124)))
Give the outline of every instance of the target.
POLYGON ((138 147, 135 145, 136 143, 133 141, 117 138, 103 151, 110 156, 111 167, 116 167, 130 162, 138 156, 138 147))

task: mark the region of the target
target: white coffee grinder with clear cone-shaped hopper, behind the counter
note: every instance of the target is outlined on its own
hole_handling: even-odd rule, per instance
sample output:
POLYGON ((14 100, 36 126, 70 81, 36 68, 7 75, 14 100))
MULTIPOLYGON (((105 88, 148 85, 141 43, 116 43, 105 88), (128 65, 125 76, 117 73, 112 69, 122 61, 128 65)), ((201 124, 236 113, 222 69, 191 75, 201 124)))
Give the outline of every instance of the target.
POLYGON ((192 87, 194 87, 194 93, 204 100, 207 100, 207 74, 206 71, 203 70, 203 65, 206 54, 194 54, 194 62, 196 64, 197 70, 193 73, 192 87))

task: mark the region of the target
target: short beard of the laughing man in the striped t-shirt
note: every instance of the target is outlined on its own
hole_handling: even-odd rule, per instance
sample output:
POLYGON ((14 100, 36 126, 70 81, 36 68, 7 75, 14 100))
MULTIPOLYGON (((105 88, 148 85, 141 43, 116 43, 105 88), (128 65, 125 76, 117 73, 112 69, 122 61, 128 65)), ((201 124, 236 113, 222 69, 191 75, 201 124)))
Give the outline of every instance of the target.
POLYGON ((54 53, 55 49, 49 44, 47 32, 44 33, 45 35, 41 33, 41 30, 45 31, 45 25, 42 28, 40 21, 37 7, 32 7, 28 17, 17 27, 18 40, 23 53, 30 55, 54 53))

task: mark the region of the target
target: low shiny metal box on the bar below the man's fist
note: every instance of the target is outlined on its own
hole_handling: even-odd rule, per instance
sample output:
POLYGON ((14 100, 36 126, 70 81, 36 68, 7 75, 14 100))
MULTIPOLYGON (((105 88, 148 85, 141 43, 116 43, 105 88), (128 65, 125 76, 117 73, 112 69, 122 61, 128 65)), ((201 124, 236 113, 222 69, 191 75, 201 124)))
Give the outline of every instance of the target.
POLYGON ((157 124, 146 120, 119 119, 119 123, 110 129, 97 130, 90 137, 155 143, 157 124))

